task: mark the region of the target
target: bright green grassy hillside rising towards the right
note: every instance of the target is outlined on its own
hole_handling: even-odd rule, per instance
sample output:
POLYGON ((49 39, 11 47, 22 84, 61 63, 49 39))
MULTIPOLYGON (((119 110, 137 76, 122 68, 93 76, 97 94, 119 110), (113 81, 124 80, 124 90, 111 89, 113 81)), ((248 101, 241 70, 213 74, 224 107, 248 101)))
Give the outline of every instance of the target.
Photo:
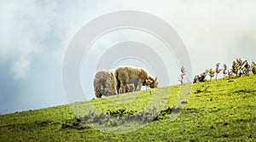
MULTIPOLYGON (((164 110, 172 107, 178 88, 173 86, 171 92, 169 88, 160 88, 160 94, 167 100, 164 110)), ((103 112, 119 109, 141 111, 152 98, 150 92, 144 91, 125 105, 115 105, 107 98, 94 99, 90 103, 103 112)), ((129 99, 132 96, 136 94, 122 94, 111 99, 129 99)), ((79 122, 69 105, 61 105, 0 116, 0 141, 256 141, 255 102, 256 76, 218 79, 193 84, 188 104, 174 121, 170 121, 168 114, 160 114, 158 120, 137 131, 103 133, 79 122)), ((77 105, 82 107, 84 103, 77 105)))

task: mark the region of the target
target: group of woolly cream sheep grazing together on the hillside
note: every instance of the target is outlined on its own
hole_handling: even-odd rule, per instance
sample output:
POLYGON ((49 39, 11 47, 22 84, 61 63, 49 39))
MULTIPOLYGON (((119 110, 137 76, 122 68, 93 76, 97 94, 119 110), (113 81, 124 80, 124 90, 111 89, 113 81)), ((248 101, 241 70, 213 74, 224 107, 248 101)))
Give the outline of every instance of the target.
POLYGON ((114 94, 140 91, 142 86, 157 88, 157 77, 152 77, 143 68, 121 66, 113 71, 97 71, 94 78, 97 98, 114 94))

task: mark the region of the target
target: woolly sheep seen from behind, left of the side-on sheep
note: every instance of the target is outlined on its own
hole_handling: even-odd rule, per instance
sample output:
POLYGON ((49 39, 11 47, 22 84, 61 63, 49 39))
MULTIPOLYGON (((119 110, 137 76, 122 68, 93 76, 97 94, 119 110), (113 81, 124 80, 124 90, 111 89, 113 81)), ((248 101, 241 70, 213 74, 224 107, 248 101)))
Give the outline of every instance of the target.
POLYGON ((97 71, 93 85, 96 98, 117 94, 117 82, 112 71, 97 71))

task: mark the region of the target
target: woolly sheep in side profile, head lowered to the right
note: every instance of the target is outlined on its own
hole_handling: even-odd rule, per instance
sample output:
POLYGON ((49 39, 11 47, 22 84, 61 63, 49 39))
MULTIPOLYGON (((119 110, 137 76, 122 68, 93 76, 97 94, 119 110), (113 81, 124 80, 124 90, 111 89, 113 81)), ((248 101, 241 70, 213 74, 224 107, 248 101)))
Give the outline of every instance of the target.
POLYGON ((157 77, 149 75, 148 71, 143 68, 133 66, 121 66, 114 72, 117 80, 117 91, 119 94, 126 93, 126 85, 134 83, 136 91, 141 90, 142 86, 157 88, 157 77))

